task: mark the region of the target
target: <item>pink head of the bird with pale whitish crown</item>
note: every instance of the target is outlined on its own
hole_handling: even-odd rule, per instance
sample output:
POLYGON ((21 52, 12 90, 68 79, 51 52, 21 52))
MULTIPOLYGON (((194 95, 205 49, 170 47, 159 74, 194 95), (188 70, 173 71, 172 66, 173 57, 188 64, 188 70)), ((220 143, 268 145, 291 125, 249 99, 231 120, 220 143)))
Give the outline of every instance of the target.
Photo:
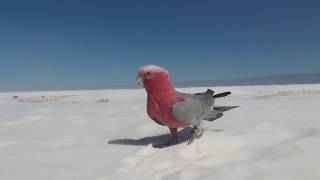
POLYGON ((168 71, 156 65, 139 68, 137 83, 147 91, 172 89, 168 71))

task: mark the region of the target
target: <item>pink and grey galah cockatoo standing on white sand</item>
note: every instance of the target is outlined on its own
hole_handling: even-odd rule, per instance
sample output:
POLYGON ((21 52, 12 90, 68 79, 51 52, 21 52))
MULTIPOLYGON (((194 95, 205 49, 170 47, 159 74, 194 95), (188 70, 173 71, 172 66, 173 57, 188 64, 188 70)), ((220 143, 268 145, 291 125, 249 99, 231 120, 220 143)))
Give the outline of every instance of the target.
POLYGON ((214 121, 223 115, 224 111, 238 106, 214 106, 214 100, 224 97, 230 92, 214 95, 208 89, 204 93, 181 93, 175 90, 169 79, 169 73, 162 67, 145 65, 138 70, 137 83, 147 92, 147 113, 156 123, 169 127, 171 142, 178 142, 178 128, 193 126, 191 143, 201 137, 203 120, 214 121))

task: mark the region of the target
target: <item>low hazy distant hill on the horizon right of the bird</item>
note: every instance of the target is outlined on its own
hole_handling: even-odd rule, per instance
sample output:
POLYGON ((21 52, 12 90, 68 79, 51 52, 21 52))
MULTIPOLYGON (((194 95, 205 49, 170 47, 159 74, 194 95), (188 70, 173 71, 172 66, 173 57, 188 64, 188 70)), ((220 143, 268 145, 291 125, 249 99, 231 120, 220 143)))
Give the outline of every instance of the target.
POLYGON ((287 74, 265 77, 226 79, 214 81, 185 81, 175 82, 178 87, 191 86, 245 86, 245 85, 283 85, 283 84, 318 84, 320 73, 313 74, 287 74))

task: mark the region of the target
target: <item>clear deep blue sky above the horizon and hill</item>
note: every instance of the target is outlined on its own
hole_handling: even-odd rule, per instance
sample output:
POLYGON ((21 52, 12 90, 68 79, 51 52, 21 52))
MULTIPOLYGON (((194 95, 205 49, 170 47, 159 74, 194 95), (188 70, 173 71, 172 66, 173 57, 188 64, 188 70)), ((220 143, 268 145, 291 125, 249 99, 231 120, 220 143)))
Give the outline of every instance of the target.
POLYGON ((319 1, 1 1, 0 90, 320 72, 319 1))

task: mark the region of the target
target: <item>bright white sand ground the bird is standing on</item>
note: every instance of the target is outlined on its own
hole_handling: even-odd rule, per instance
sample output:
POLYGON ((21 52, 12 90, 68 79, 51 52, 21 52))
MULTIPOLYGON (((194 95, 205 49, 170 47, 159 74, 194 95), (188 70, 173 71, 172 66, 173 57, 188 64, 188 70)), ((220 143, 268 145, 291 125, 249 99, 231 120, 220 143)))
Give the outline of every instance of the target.
POLYGON ((0 179, 320 179, 320 85, 212 89, 224 131, 163 149, 142 89, 0 93, 0 179))

